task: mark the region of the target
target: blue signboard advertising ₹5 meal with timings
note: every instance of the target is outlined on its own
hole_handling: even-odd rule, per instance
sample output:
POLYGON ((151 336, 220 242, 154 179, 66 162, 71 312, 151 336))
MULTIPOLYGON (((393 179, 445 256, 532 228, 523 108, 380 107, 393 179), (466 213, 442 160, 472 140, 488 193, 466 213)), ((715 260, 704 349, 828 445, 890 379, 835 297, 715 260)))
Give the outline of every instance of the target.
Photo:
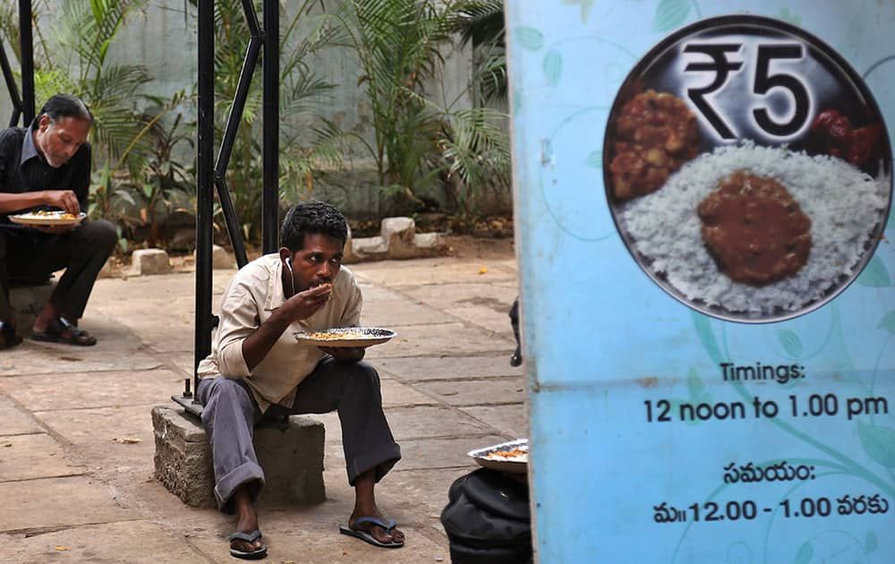
POLYGON ((507 0, 541 562, 895 562, 895 7, 507 0))

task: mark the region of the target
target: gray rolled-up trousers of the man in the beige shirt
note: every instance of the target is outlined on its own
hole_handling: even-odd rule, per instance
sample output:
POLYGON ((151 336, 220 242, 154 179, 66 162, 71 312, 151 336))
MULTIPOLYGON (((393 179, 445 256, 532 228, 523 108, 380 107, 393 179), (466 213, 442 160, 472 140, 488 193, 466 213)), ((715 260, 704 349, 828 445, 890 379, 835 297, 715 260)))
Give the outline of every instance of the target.
MULTIPOLYGON (((252 445, 254 424, 261 412, 243 380, 217 378, 199 382, 196 397, 202 404, 202 425, 211 443, 215 467, 215 497, 224 511, 236 489, 246 484, 252 499, 264 485, 264 472, 252 445)), ((382 412, 379 374, 368 363, 337 363, 326 355, 314 372, 298 385, 292 408, 275 404, 265 415, 338 412, 348 483, 373 469, 379 480, 401 459, 382 412)))

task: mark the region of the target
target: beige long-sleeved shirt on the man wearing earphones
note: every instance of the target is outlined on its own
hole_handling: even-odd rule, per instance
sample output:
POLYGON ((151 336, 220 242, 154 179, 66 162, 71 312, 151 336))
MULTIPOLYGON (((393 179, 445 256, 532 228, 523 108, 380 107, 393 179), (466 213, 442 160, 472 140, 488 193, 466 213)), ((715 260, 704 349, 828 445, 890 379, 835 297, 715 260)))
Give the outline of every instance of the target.
POLYGON ((295 331, 357 327, 361 320, 361 289, 351 270, 342 267, 333 281, 329 301, 308 319, 290 324, 250 372, 243 358, 243 340, 286 302, 282 271, 279 255, 268 254, 236 273, 221 298, 220 324, 211 355, 199 363, 198 370, 200 378, 244 379, 262 412, 270 404, 292 406, 295 386, 313 372, 323 357, 317 346, 297 341, 293 337, 295 331))

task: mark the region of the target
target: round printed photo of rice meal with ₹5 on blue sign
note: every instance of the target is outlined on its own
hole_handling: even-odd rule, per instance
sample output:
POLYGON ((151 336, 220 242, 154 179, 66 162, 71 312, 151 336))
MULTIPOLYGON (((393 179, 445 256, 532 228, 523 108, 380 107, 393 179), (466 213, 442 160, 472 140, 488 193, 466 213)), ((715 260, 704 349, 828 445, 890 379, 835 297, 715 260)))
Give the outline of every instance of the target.
POLYGON ((653 47, 618 91, 603 158, 635 261, 724 320, 830 302, 873 256, 891 204, 870 91, 823 41, 770 18, 703 20, 653 47))

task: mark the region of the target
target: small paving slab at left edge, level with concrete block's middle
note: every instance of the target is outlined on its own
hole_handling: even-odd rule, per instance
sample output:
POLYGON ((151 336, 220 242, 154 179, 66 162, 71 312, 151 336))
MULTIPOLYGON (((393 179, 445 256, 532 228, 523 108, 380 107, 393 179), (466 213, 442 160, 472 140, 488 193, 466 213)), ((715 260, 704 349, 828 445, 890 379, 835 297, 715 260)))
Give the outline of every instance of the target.
POLYGON ((47 435, 0 436, 0 482, 84 474, 62 445, 47 435))

